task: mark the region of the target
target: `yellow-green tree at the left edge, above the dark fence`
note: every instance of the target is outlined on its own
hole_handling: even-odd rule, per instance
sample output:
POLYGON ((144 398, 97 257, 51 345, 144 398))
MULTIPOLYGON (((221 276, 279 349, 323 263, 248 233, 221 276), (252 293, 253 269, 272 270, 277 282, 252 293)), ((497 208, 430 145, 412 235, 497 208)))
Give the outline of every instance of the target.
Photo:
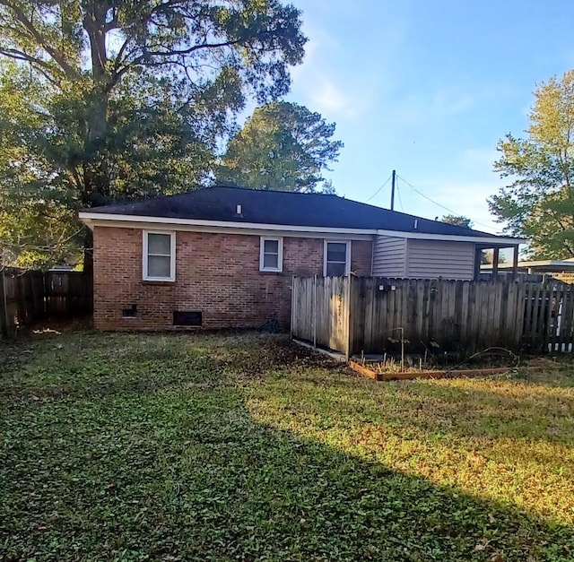
POLYGON ((45 268, 76 261, 78 225, 50 187, 47 161, 30 149, 42 126, 43 84, 30 82, 17 65, 0 74, 0 265, 45 268), (75 252, 74 252, 75 250, 75 252))

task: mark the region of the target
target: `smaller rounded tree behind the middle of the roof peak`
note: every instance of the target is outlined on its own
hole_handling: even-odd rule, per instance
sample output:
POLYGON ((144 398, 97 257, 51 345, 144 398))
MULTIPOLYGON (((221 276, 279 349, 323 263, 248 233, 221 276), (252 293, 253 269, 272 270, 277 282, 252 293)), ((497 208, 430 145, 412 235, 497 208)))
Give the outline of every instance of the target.
POLYGON ((333 193, 322 171, 336 161, 341 141, 331 140, 335 123, 319 113, 287 101, 256 108, 243 128, 231 138, 219 183, 253 189, 321 191, 333 193))

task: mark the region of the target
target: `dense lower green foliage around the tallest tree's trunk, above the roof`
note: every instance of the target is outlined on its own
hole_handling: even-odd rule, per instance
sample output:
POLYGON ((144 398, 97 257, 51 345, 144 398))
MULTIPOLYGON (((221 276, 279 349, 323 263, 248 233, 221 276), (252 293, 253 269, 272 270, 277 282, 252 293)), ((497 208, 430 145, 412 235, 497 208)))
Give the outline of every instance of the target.
POLYGON ((67 163, 57 181, 68 187, 77 204, 91 207, 173 194, 205 182, 225 125, 210 122, 215 108, 210 113, 170 88, 166 98, 164 81, 149 74, 117 86, 116 96, 109 99, 108 134, 95 152, 86 143, 90 104, 70 92, 55 97, 41 149, 54 167, 67 163), (102 168, 107 181, 99 189, 87 189, 85 171, 102 168))

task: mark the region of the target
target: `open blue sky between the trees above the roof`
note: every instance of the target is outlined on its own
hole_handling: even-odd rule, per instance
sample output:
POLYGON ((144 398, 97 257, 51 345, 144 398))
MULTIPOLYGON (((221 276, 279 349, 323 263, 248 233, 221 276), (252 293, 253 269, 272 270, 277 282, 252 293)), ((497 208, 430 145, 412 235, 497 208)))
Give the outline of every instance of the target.
MULTIPOLYGON (((574 67, 568 0, 291 0, 309 37, 287 99, 337 124, 340 195, 366 202, 391 170, 500 231, 486 198, 504 134, 522 135, 536 84, 574 67)), ((446 211, 398 180, 396 210, 446 211)), ((388 206, 390 182, 370 203, 388 206)))

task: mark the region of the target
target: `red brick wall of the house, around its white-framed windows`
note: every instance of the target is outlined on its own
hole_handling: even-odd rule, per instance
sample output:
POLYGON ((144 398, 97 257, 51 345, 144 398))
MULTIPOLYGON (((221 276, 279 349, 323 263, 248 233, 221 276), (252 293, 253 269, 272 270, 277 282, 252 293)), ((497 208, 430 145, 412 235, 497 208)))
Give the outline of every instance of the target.
MULTIPOLYGON (((142 281, 141 229, 94 229, 94 324, 173 329, 174 310, 203 311, 204 328, 258 327, 291 315, 292 275, 323 273, 323 239, 283 238, 283 272, 259 271, 259 237, 176 233, 176 281, 142 281), (123 318, 124 308, 137 308, 123 318)), ((352 241, 352 272, 370 275, 371 242, 352 241)))

